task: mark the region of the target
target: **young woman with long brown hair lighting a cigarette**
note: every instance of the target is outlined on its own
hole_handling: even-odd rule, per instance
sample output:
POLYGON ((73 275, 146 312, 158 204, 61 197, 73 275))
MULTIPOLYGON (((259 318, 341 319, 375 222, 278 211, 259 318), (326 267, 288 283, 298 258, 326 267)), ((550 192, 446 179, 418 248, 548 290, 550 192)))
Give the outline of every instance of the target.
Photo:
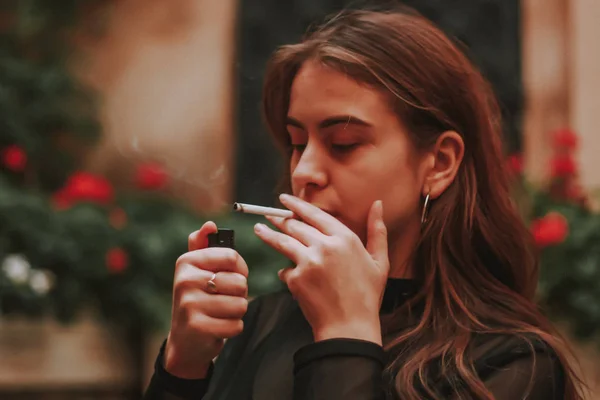
POLYGON ((206 223, 146 399, 581 398, 533 301, 498 107, 440 30, 342 12, 275 53, 263 106, 295 217, 256 234, 293 262, 289 290, 248 304, 244 260, 206 248, 206 223))

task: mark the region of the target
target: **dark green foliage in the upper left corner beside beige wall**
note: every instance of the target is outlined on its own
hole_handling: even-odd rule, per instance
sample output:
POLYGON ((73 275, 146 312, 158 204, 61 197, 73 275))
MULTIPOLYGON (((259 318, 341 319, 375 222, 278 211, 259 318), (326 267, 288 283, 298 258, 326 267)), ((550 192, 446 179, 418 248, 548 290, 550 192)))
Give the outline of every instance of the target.
MULTIPOLYGON (((99 137, 93 92, 69 65, 76 55, 71 22, 98 1, 0 3, 0 148, 18 144, 31 166, 24 183, 54 190, 99 137)), ((16 183, 18 180, 13 181, 16 183)))

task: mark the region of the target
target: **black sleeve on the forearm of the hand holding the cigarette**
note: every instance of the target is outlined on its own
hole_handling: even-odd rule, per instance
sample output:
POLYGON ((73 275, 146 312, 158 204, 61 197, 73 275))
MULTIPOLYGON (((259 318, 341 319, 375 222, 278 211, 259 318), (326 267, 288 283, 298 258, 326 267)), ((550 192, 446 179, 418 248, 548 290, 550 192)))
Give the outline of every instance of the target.
POLYGON ((383 348, 357 339, 329 339, 294 354, 294 400, 383 399, 383 348))

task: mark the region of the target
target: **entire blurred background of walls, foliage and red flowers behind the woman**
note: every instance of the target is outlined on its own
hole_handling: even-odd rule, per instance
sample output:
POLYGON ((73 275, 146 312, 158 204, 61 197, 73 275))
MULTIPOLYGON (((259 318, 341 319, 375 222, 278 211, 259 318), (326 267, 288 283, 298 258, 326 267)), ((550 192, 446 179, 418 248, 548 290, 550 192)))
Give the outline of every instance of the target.
MULTIPOLYGON (((283 260, 233 217, 272 205, 269 54, 342 0, 0 1, 0 399, 136 399, 170 318, 174 262, 208 218, 250 290, 283 260)), ((539 302, 600 383, 600 2, 410 0, 492 82, 539 302)))

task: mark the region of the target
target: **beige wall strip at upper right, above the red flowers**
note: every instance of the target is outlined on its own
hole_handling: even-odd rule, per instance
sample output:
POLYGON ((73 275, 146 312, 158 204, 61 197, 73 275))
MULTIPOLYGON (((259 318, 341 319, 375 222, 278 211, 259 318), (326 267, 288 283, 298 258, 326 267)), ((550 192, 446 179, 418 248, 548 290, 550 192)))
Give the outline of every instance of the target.
POLYGON ((548 172, 549 133, 574 129, 581 183, 600 187, 600 1, 523 0, 523 79, 527 170, 548 172))

